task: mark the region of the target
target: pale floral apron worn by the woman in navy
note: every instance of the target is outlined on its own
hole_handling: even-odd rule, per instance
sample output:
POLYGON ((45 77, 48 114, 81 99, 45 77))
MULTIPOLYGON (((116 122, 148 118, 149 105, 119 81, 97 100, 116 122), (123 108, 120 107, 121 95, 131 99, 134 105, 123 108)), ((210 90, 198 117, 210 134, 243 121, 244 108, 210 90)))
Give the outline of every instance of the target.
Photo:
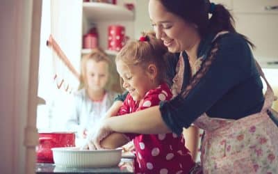
POLYGON ((209 118, 202 114, 194 124, 204 129, 203 173, 278 173, 278 127, 268 116, 275 100, 267 84, 261 112, 239 120, 209 118))

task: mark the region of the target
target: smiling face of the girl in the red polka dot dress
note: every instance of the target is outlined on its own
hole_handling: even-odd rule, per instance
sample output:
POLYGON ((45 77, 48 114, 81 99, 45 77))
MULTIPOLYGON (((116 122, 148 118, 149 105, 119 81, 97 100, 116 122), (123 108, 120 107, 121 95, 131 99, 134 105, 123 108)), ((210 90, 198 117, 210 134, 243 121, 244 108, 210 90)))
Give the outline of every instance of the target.
POLYGON ((126 65, 122 61, 116 61, 117 72, 123 80, 122 86, 129 91, 135 101, 142 100, 147 91, 154 88, 152 78, 140 65, 126 65))

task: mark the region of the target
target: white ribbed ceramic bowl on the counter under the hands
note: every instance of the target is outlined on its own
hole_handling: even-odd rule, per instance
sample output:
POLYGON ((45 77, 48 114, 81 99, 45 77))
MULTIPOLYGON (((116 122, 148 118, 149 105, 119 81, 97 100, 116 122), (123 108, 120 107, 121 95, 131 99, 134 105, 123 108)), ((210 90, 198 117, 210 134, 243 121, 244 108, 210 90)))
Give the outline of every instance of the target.
POLYGON ((79 148, 51 148, 56 166, 76 168, 112 167, 120 163, 122 148, 115 150, 79 150, 79 148))

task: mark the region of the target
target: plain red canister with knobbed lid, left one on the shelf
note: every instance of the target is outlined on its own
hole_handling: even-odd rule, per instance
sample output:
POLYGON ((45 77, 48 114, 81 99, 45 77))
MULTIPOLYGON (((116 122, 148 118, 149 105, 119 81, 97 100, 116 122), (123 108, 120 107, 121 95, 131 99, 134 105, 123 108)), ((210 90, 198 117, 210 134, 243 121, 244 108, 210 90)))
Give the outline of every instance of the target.
POLYGON ((90 31, 83 35, 83 48, 84 49, 94 49, 98 46, 99 35, 97 33, 97 28, 92 27, 90 31))

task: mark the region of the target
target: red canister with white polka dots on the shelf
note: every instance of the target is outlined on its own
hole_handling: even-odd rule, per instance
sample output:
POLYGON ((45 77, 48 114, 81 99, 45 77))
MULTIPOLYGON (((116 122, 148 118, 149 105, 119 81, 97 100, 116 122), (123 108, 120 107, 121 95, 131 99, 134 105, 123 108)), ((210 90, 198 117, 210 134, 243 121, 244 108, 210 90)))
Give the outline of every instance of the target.
POLYGON ((108 49, 120 51, 125 43, 125 28, 121 25, 108 26, 108 49))

